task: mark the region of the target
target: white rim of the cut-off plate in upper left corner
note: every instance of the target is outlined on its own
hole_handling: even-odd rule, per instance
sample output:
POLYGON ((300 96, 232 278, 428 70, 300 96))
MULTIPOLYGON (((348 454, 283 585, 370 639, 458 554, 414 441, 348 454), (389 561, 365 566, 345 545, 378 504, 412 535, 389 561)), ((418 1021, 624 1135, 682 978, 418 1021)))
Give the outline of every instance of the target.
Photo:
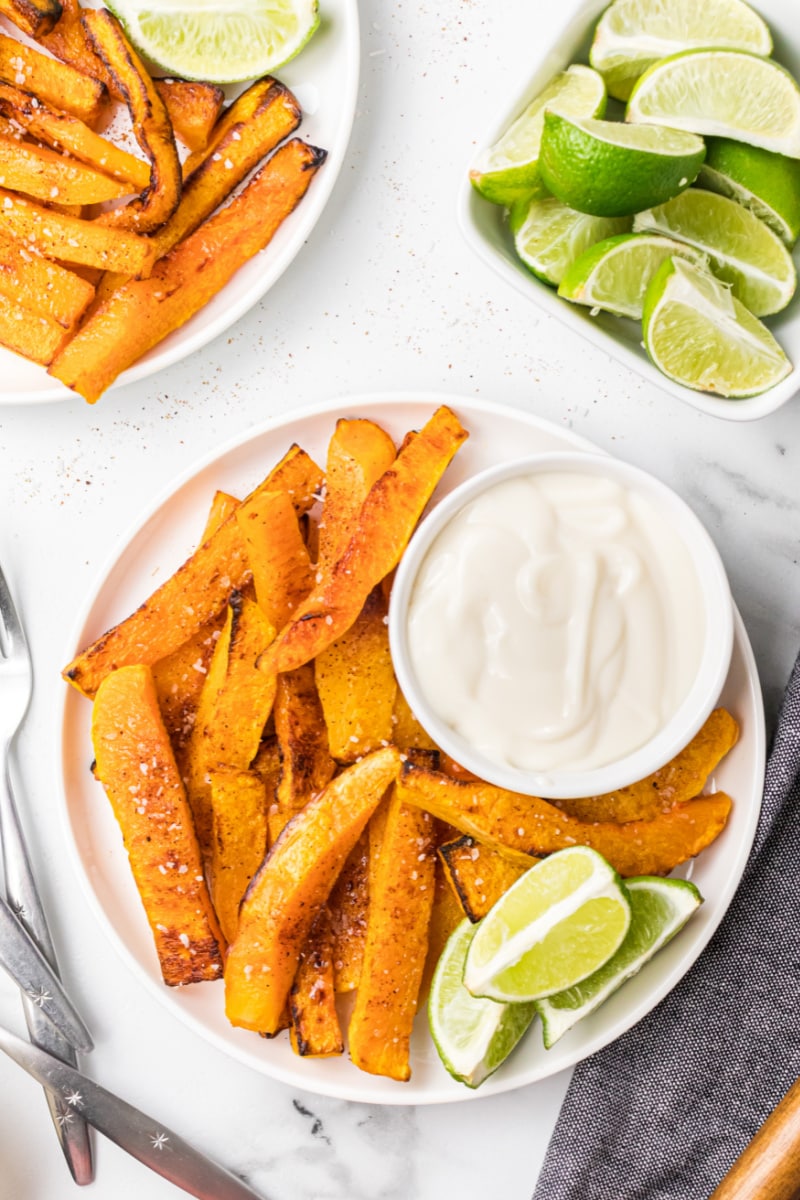
MULTIPOLYGON (((158 353, 158 344, 162 343, 152 347, 152 350, 149 350, 144 358, 139 359, 126 371, 122 371, 122 373, 116 377, 114 383, 106 389, 103 395, 110 395, 110 392, 116 391, 127 384, 138 383, 142 379, 148 379, 151 376, 158 374, 161 371, 166 371, 176 362, 181 362, 191 354, 196 354, 210 342, 213 342, 217 337, 224 334, 225 330, 230 329, 230 326, 234 325, 241 317, 249 312, 251 308, 255 307, 259 300, 267 295, 308 241, 308 238, 327 208, 329 200, 344 166, 350 138, 353 136, 356 104, 359 100, 359 88, 361 83, 361 28, 357 0, 339 0, 339 2, 342 6, 341 11, 345 14, 342 23, 341 53, 343 61, 347 64, 347 70, 343 72, 344 86, 338 94, 341 97, 341 104, 336 136, 333 138, 335 145, 326 148, 327 158, 325 162, 325 169, 318 173, 314 179, 313 187, 309 188, 303 204, 297 209, 297 228, 293 232, 288 245, 283 246, 281 253, 276 256, 276 260, 272 263, 267 281, 265 283, 260 280, 254 281, 254 283, 241 296, 239 296, 237 300, 224 306, 224 308, 213 318, 211 325, 196 330, 196 332, 191 334, 185 341, 179 341, 175 346, 167 350, 162 350, 161 353, 158 353), (154 350, 156 354, 151 358, 150 355, 154 350)), ((293 62, 288 65, 291 66, 293 62)), ((249 80, 249 83, 252 82, 254 80, 249 80)), ((296 131, 296 136, 303 137, 302 125, 296 131)), ((290 214, 290 216, 294 216, 294 214, 290 214)), ((233 278, 235 278, 235 274, 217 294, 224 293, 233 278)), ((178 332, 178 330, 173 330, 173 332, 178 332)), ((8 350, 7 353, 12 354, 13 352, 8 350)), ((22 355, 16 356, 22 358, 22 355)), ((31 366, 35 365, 36 364, 31 364, 31 366)), ((40 367, 40 370, 46 379, 50 379, 47 374, 46 367, 40 367)), ((18 406, 20 408, 26 408, 37 404, 54 404, 67 400, 77 401, 80 398, 82 397, 78 396, 77 392, 72 391, 72 389, 66 388, 62 383, 59 383, 55 379, 52 379, 46 386, 37 388, 35 390, 20 391, 17 389, 0 391, 0 407, 18 406)))

